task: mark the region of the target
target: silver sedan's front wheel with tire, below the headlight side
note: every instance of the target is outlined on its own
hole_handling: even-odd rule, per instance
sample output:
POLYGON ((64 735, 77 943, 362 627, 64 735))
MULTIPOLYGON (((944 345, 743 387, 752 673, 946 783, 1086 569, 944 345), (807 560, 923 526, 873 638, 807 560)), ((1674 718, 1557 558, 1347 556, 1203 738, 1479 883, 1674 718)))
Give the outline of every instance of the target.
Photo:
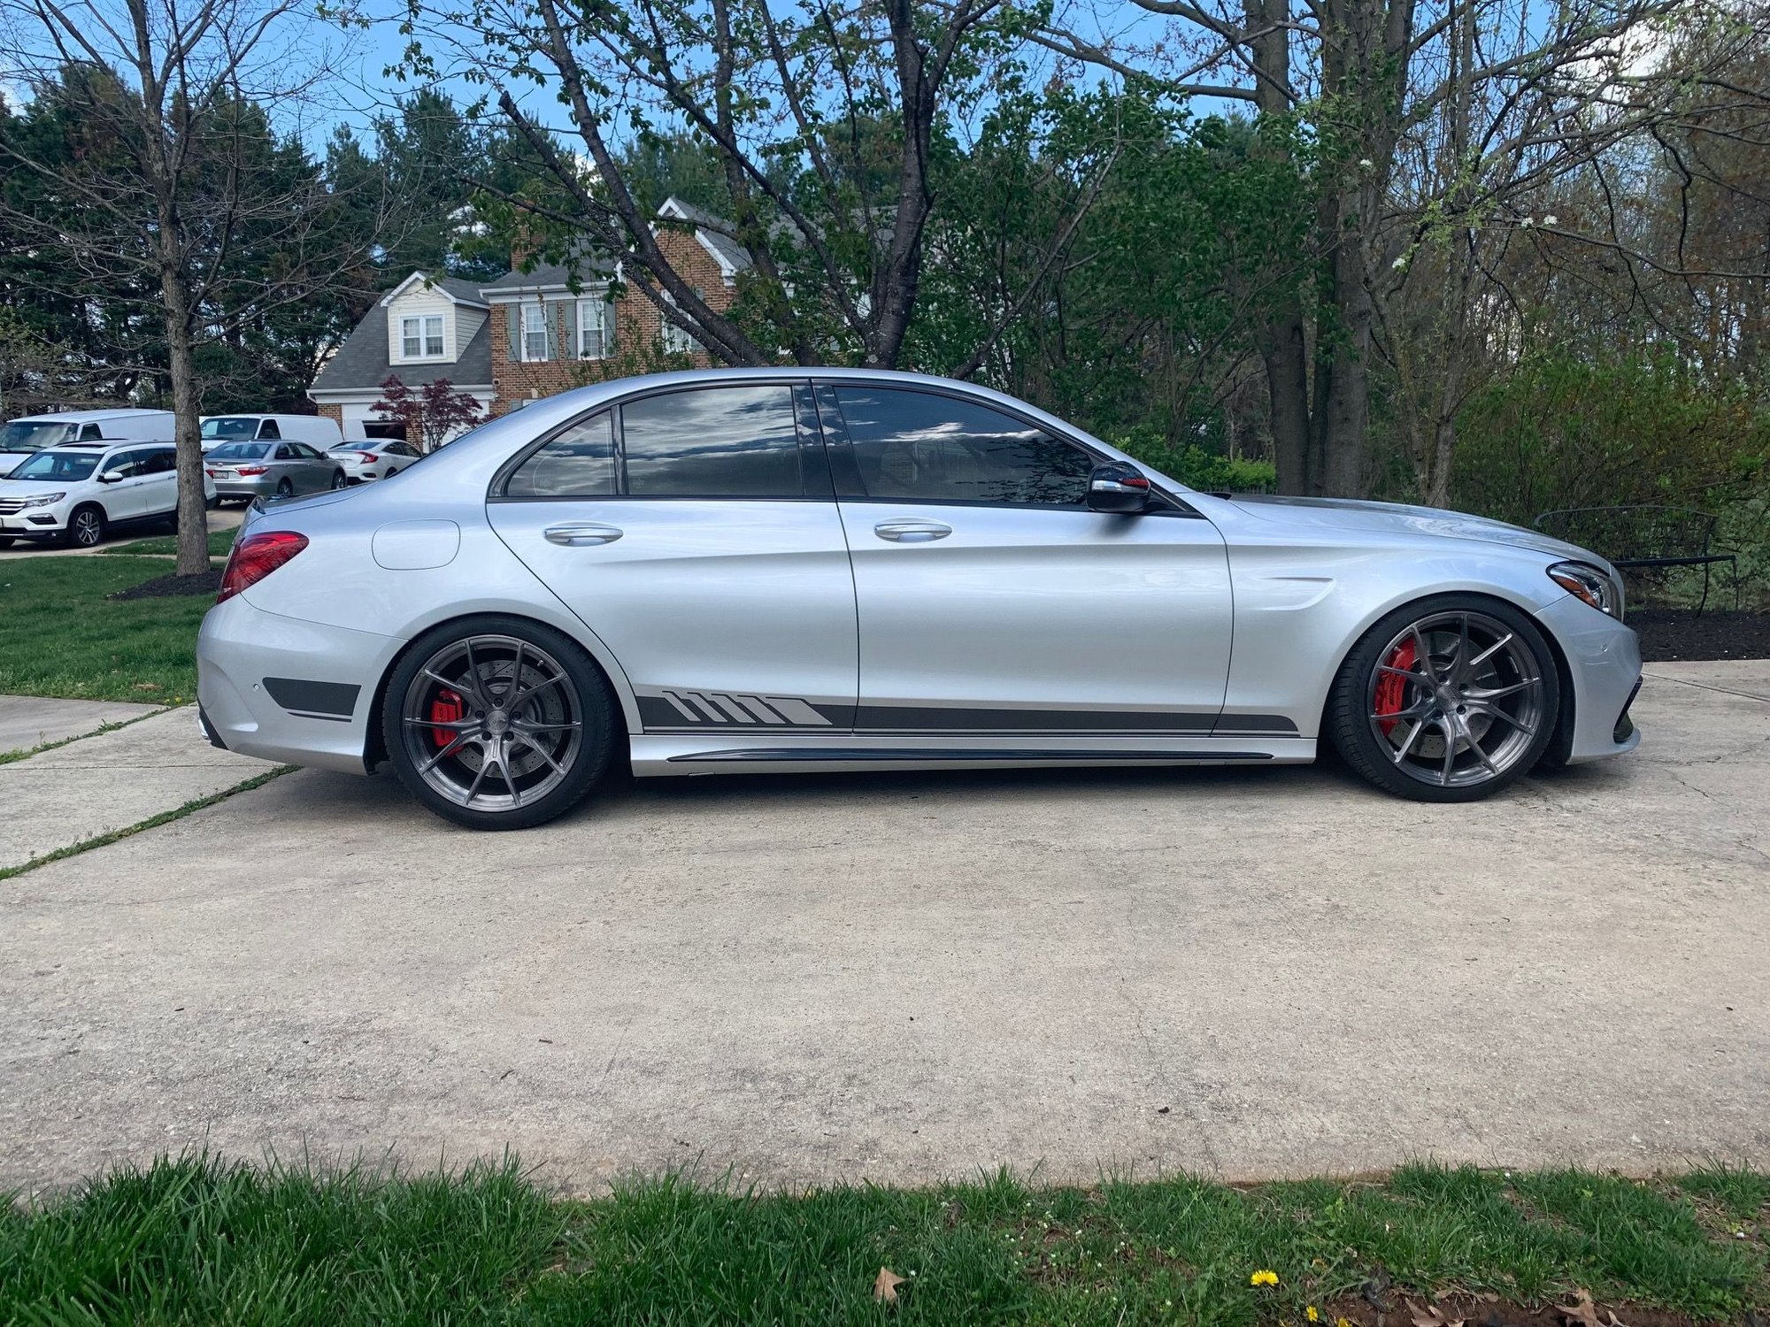
POLYGON ((1526 614, 1441 594, 1397 609, 1359 639, 1326 718, 1335 748, 1377 787, 1474 802, 1536 764, 1559 706, 1554 656, 1526 614))

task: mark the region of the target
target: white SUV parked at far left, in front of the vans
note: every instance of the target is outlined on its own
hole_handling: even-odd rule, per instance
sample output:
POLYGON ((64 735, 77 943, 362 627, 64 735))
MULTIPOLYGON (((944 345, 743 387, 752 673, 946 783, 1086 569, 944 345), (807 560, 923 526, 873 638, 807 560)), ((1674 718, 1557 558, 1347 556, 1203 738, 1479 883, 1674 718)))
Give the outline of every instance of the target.
MULTIPOLYGON (((214 483, 204 478, 204 502, 214 483)), ((44 448, 0 479, 0 547, 42 540, 90 548, 113 525, 172 520, 179 508, 177 449, 170 442, 92 442, 44 448)))

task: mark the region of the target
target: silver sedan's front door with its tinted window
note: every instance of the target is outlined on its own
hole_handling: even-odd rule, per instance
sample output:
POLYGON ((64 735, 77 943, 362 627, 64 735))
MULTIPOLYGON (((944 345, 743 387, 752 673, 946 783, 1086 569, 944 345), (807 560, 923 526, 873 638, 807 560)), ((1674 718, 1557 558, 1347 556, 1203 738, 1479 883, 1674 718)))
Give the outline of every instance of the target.
POLYGON ((1099 456, 975 398, 816 400, 855 570, 857 733, 1067 748, 1212 731, 1232 600, 1211 522, 1090 511, 1099 456))

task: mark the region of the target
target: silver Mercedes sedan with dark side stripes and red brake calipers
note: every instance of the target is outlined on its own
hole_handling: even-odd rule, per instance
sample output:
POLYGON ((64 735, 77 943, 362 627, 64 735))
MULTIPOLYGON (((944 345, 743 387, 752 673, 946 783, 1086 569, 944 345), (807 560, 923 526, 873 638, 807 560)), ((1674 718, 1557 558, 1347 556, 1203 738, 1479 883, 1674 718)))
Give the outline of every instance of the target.
POLYGON ((1271 764, 1466 802, 1637 743, 1616 571, 1492 520, 1200 494, 993 391, 581 387, 246 524, 209 738, 538 825, 639 775, 1271 764))

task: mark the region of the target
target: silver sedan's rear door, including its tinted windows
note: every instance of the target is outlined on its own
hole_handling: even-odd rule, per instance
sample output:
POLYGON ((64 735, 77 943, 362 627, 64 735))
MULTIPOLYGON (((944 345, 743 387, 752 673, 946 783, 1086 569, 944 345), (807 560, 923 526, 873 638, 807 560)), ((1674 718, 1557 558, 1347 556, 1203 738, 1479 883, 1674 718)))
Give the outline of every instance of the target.
POLYGON ((531 449, 492 527, 609 646, 646 733, 846 733, 855 591, 802 382, 658 391, 531 449))

